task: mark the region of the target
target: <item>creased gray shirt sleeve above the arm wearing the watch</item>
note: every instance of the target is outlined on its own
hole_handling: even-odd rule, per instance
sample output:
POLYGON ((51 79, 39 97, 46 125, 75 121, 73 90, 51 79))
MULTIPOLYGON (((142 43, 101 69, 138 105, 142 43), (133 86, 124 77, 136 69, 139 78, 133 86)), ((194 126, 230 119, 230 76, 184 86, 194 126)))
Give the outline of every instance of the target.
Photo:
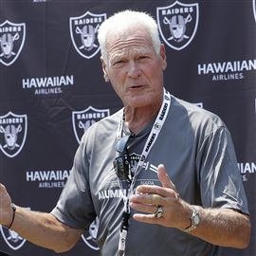
POLYGON ((203 207, 248 214, 247 196, 226 126, 216 126, 206 135, 196 160, 203 207))

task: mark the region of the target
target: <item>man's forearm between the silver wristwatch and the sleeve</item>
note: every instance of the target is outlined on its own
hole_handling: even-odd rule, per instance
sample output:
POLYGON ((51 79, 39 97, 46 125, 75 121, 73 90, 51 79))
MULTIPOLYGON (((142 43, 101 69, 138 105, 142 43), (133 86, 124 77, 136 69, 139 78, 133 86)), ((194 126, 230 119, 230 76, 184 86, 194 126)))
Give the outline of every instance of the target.
POLYGON ((192 235, 222 247, 248 246, 251 227, 247 215, 229 209, 196 209, 201 222, 192 235))

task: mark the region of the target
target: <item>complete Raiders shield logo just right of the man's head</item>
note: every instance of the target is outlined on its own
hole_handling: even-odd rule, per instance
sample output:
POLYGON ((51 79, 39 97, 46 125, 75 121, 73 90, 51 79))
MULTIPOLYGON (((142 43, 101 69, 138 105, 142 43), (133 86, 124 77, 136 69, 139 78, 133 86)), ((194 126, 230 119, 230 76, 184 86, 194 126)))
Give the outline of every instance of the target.
POLYGON ((156 9, 160 35, 167 46, 181 50, 189 46, 199 20, 198 4, 175 1, 173 5, 156 9))

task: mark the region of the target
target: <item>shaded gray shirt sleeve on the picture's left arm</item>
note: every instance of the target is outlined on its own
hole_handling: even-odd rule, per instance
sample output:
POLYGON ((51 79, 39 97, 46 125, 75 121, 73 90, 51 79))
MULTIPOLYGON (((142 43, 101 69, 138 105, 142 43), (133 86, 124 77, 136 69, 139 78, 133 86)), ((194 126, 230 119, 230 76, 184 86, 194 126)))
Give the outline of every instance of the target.
POLYGON ((96 213, 88 183, 88 157, 82 143, 56 207, 51 211, 59 221, 75 229, 86 229, 96 213))

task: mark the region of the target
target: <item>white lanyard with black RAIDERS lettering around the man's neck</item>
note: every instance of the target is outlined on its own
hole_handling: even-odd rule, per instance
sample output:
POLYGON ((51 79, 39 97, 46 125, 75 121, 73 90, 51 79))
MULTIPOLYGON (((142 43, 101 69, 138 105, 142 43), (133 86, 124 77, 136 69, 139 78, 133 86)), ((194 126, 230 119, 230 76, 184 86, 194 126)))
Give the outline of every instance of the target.
MULTIPOLYGON (((129 207, 129 200, 131 195, 134 192, 134 187, 137 179, 137 174, 139 174, 140 170, 142 169, 144 162, 149 155, 152 147, 155 144, 155 141, 162 129, 162 126, 165 122, 165 119, 168 115, 169 109, 171 105, 171 97, 170 93, 164 89, 164 96, 163 96, 163 102, 161 105, 161 108, 158 112, 158 115, 155 119, 155 123, 152 127, 152 130, 150 132, 149 137, 147 138, 147 141, 144 145, 143 151, 139 157, 139 160, 137 162, 137 168, 135 170, 134 177, 132 178, 130 188, 127 192, 127 196, 123 194, 122 190, 122 185, 121 181, 119 179, 119 186, 120 186, 120 191, 122 192, 122 198, 123 198, 123 203, 124 203, 124 209, 123 209, 123 214, 122 214, 122 221, 121 221, 121 227, 120 227, 120 235, 119 235, 119 256, 124 255, 125 253, 125 246, 126 246, 126 236, 128 233, 128 221, 130 218, 130 207, 129 207)), ((117 133, 117 138, 119 139, 122 135, 122 129, 123 129, 123 120, 120 119, 119 122, 119 129, 117 133)))

